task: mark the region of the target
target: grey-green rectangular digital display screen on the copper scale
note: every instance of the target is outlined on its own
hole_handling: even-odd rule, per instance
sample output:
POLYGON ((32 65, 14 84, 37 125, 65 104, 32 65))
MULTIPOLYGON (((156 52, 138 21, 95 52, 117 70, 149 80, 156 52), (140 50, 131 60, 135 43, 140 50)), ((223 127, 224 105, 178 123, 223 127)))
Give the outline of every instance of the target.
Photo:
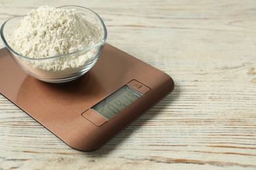
POLYGON ((131 103, 137 101, 141 96, 142 93, 139 93, 136 90, 133 90, 133 88, 125 85, 120 90, 117 90, 117 92, 100 101, 100 103, 92 109, 110 120, 119 114, 121 110, 129 107, 131 103))

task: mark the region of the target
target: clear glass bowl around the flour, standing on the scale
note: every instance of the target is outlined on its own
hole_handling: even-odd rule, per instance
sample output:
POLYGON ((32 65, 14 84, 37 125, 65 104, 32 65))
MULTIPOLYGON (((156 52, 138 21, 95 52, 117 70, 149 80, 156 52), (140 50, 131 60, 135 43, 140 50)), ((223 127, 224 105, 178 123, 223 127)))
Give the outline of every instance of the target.
POLYGON ((101 35, 102 38, 100 39, 100 41, 96 42, 93 46, 89 46, 88 48, 85 48, 83 50, 78 50, 76 52, 72 52, 69 54, 51 56, 49 58, 28 58, 26 56, 22 56, 18 54, 18 52, 13 50, 7 39, 7 35, 10 33, 13 27, 15 27, 16 24, 18 24, 18 22, 20 22, 20 20, 24 18, 24 16, 17 16, 14 18, 10 18, 6 22, 4 22, 3 25, 1 26, 1 38, 5 46, 9 49, 12 59, 14 59, 14 61, 18 65, 20 65, 20 67, 24 71, 26 71, 26 73, 44 82, 54 82, 54 83, 69 82, 71 80, 74 80, 84 75, 87 71, 89 71, 93 67, 93 65, 95 65, 106 43, 106 38, 107 38, 106 26, 104 25, 104 22, 102 21, 100 16, 96 14, 96 12, 94 12, 91 9, 87 9, 79 6, 63 6, 59 8, 76 9, 77 12, 79 12, 81 16, 85 17, 87 21, 92 23, 95 23, 95 22, 98 23, 98 25, 102 29, 102 35, 101 35), (64 69, 64 70, 60 69, 58 71, 51 71, 51 69, 47 70, 47 69, 41 68, 42 65, 45 65, 45 66, 51 65, 54 62, 61 60, 62 58, 70 58, 68 59, 68 61, 74 62, 72 61, 72 59, 83 58, 83 56, 85 55, 91 55, 92 59, 89 61, 86 61, 85 63, 82 63, 81 65, 79 65, 79 67, 64 69))

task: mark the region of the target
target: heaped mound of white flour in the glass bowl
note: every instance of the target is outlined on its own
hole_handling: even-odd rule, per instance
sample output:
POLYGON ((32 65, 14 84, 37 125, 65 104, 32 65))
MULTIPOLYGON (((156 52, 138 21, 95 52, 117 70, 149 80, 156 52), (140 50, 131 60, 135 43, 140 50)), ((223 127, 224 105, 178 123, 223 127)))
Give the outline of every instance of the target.
POLYGON ((22 62, 41 71, 75 73, 91 61, 98 48, 66 57, 42 59, 68 54, 93 46, 102 40, 102 27, 91 23, 75 9, 39 7, 28 12, 8 36, 10 46, 22 56, 22 62))

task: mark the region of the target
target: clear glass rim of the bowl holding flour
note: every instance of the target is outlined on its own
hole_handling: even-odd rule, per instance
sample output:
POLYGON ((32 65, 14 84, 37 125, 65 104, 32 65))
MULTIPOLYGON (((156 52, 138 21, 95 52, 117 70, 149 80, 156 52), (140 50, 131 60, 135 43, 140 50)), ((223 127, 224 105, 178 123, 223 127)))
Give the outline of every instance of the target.
MULTIPOLYGON (((93 10, 91 9, 88 9, 86 7, 81 7, 81 6, 78 6, 78 5, 64 5, 64 6, 60 6, 60 7, 56 7, 56 9, 61 9, 61 8, 64 8, 64 7, 74 7, 74 9, 85 9, 85 10, 89 10, 91 12, 93 12, 93 14, 95 14, 96 18, 98 18, 98 20, 100 21, 100 24, 102 25, 103 27, 103 31, 104 31, 104 37, 102 38, 101 41, 97 42, 96 44, 94 44, 93 46, 89 46, 87 48, 83 48, 82 50, 77 50, 75 52, 70 52, 70 53, 67 53, 67 54, 60 54, 60 55, 57 55, 57 56, 49 56, 47 58, 29 58, 29 57, 26 57, 26 56, 22 56, 21 54, 19 54, 18 52, 16 52, 15 50, 13 50, 11 48, 11 46, 9 45, 9 43, 7 42, 7 40, 5 39, 5 35, 3 34, 3 29, 5 28, 5 24, 7 24, 7 22, 9 22, 10 20, 14 20, 14 19, 17 19, 17 18, 24 18, 25 16, 27 15, 22 15, 22 16, 14 16, 12 18, 9 18, 8 20, 6 20, 3 25, 1 26, 1 29, 0 29, 0 35, 1 35, 1 38, 3 40, 3 43, 5 44, 5 46, 14 54, 16 54, 17 56, 21 57, 21 58, 24 58, 24 59, 31 59, 31 60, 44 60, 44 59, 53 59, 53 58, 62 58, 64 56, 70 56, 72 54, 77 54, 79 52, 85 52, 87 50, 91 50, 92 48, 95 48, 97 46, 101 46, 102 44, 105 44, 106 43, 106 39, 108 37, 108 31, 106 29, 106 25, 104 24, 102 18, 100 18, 100 16, 93 10)), ((71 8, 72 9, 72 8, 71 8)))

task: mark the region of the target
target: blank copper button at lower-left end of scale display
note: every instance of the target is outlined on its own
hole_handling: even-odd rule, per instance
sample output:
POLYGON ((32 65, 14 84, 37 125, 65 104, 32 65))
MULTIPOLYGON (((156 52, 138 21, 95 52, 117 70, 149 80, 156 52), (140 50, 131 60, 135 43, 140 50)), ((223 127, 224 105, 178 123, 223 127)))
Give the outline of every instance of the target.
POLYGON ((96 126, 102 126, 102 124, 106 123, 108 120, 104 117, 95 112, 92 109, 86 110, 82 113, 82 116, 95 124, 96 126))

